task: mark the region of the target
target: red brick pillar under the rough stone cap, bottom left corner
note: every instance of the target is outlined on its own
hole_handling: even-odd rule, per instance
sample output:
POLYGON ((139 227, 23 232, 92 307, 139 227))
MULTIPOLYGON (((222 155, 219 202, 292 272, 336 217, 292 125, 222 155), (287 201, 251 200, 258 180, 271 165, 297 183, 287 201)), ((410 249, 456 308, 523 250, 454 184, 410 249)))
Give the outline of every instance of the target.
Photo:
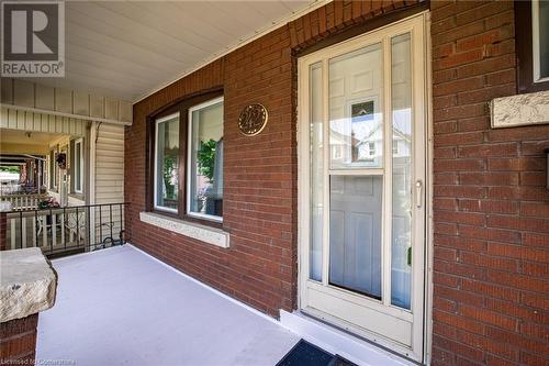
POLYGON ((34 365, 38 314, 0 323, 0 364, 34 365))

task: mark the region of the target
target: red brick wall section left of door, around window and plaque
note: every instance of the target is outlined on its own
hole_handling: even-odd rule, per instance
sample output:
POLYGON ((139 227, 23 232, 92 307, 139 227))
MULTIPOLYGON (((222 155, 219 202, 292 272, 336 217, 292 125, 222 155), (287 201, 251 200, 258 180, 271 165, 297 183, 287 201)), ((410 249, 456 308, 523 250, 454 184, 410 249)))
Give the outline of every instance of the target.
MULTIPOLYGON (((407 1, 407 4, 415 3, 407 1)), ((213 62, 134 106, 125 134, 126 220, 132 243, 274 317, 296 307, 296 69, 293 52, 405 7, 404 1, 337 1, 213 62), (175 100, 223 86, 225 95, 224 249, 139 222, 145 209, 146 117, 175 100), (269 111, 258 136, 237 119, 248 103, 269 111)))

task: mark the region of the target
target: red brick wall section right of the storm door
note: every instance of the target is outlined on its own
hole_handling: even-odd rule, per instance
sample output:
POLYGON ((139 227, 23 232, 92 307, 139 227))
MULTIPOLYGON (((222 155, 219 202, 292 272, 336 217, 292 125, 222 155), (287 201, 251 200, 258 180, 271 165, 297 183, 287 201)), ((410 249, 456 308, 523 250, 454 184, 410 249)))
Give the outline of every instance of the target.
POLYGON ((549 126, 492 130, 516 93, 513 2, 433 1, 437 365, 549 363, 549 126))

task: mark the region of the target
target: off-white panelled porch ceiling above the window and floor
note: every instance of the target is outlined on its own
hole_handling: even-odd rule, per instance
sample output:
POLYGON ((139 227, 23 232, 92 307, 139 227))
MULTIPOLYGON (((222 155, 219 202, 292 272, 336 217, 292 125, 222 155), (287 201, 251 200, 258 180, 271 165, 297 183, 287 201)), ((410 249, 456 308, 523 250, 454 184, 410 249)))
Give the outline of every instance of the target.
POLYGON ((67 1, 66 77, 33 80, 135 102, 323 2, 67 1))

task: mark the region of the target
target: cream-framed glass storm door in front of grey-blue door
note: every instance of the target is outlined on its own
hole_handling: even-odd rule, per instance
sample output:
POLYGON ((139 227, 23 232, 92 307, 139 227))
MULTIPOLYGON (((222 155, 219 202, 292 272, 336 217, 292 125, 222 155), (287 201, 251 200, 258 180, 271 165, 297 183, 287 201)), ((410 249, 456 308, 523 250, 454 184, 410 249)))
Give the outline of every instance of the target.
POLYGON ((300 307, 423 359, 424 15, 303 56, 300 307))

